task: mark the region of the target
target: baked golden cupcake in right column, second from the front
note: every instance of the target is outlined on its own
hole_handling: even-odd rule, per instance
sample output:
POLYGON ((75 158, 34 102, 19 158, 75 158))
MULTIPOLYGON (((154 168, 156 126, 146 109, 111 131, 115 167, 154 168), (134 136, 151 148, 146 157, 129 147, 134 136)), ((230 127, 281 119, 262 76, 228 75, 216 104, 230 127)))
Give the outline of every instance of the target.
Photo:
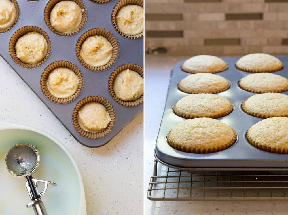
POLYGON ((281 93, 262 93, 242 103, 243 111, 259 118, 288 117, 288 96, 281 93))

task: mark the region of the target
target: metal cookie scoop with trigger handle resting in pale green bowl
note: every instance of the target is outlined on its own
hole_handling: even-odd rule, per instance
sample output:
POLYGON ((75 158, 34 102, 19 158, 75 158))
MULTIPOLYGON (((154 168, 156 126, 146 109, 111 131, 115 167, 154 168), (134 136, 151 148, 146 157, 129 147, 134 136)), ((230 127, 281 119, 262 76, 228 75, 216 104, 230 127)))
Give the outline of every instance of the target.
POLYGON ((32 174, 39 166, 40 156, 34 146, 27 143, 17 143, 5 156, 5 165, 8 172, 15 177, 26 177, 26 188, 32 200, 26 207, 33 207, 36 215, 47 215, 41 196, 44 195, 48 188, 48 184, 57 186, 54 182, 33 179, 32 174), (37 183, 44 183, 43 190, 38 193, 37 183))

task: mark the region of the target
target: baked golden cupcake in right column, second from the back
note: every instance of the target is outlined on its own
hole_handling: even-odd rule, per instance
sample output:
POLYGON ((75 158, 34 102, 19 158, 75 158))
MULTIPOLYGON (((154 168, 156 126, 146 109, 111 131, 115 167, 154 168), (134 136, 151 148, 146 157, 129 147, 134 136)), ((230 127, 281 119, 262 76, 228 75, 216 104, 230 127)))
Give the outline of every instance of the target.
POLYGON ((255 73, 242 78, 239 86, 253 93, 281 93, 288 90, 288 79, 272 73, 255 73))

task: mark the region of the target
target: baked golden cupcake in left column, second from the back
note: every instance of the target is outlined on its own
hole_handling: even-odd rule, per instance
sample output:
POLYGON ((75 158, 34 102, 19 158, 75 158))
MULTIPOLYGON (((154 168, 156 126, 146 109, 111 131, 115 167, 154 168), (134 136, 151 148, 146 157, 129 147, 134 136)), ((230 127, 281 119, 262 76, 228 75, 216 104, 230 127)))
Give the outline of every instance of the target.
POLYGON ((230 82, 219 75, 197 73, 188 75, 178 84, 179 90, 185 93, 219 93, 230 87, 230 82))

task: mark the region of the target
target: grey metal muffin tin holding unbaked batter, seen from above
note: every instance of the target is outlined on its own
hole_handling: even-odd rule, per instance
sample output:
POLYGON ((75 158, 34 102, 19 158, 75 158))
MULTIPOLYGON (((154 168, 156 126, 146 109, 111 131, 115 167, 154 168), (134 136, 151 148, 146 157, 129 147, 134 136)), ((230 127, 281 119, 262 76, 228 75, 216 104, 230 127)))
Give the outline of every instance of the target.
MULTIPOLYGON (((129 121, 143 110, 143 102, 140 105, 126 107, 118 104, 111 97, 108 90, 108 81, 115 68, 122 64, 132 63, 143 67, 143 37, 139 39, 127 39, 120 35, 112 25, 111 16, 114 6, 118 1, 108 3, 95 3, 90 0, 82 0, 86 7, 86 22, 83 28, 71 36, 60 36, 53 33, 45 23, 44 9, 48 0, 39 1, 17 1, 19 5, 19 18, 16 24, 9 30, 0 33, 0 55, 14 69, 14 71, 25 81, 42 102, 67 128, 72 136, 82 145, 88 147, 99 147, 111 140, 129 121), (48 59, 38 67, 24 68, 18 65, 9 53, 9 41, 11 36, 19 28, 24 26, 36 26, 45 31, 51 40, 51 53, 48 59), (86 69, 77 59, 76 43, 79 37, 92 28, 104 28, 110 31, 118 40, 119 56, 115 63, 104 71, 91 71, 86 69), (40 78, 42 72, 52 62, 66 60, 75 64, 82 72, 84 86, 80 95, 70 103, 57 104, 49 100, 41 90, 40 78), (72 113, 76 104, 83 98, 91 95, 106 98, 115 110, 115 124, 112 130, 99 139, 89 139, 77 132, 72 122, 72 113)), ((13 98, 11 98, 13 99, 13 98)))

